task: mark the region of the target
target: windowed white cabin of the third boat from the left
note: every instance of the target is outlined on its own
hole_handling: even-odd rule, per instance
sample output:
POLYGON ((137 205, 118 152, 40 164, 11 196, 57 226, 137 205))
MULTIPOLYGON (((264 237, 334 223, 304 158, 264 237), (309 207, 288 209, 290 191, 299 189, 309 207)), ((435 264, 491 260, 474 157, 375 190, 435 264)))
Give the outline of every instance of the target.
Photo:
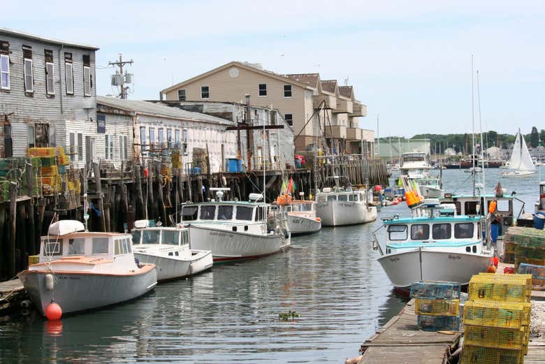
POLYGON ((243 201, 218 201, 210 203, 191 203, 182 207, 182 222, 220 221, 266 221, 266 217, 276 210, 268 203, 249 203, 243 201))

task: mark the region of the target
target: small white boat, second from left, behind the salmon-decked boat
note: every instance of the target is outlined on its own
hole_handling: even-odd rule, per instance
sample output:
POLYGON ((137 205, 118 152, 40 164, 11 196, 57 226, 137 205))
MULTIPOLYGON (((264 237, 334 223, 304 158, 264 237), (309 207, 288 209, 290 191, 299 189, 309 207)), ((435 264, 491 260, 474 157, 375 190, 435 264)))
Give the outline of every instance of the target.
POLYGON ((149 221, 134 222, 133 253, 141 263, 157 265, 157 280, 188 277, 212 268, 210 250, 191 249, 189 228, 150 227, 149 221))

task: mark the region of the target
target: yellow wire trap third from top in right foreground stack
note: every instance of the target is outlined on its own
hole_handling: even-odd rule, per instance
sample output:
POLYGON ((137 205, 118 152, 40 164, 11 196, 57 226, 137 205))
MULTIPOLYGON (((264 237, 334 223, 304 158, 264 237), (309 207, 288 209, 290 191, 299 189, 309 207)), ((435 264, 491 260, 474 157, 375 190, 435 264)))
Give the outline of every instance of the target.
POLYGON ((464 344, 495 349, 519 349, 525 342, 523 328, 494 328, 465 325, 464 344))

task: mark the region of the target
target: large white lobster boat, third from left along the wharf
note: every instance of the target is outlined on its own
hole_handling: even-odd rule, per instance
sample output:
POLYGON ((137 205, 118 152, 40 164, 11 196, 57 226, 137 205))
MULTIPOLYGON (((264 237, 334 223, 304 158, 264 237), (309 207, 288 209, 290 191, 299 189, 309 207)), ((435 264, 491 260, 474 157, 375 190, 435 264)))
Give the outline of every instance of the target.
POLYGON ((287 249, 291 243, 286 214, 278 206, 259 203, 263 195, 250 194, 250 201, 187 203, 182 224, 189 226, 191 247, 211 250, 215 262, 253 259, 287 249))

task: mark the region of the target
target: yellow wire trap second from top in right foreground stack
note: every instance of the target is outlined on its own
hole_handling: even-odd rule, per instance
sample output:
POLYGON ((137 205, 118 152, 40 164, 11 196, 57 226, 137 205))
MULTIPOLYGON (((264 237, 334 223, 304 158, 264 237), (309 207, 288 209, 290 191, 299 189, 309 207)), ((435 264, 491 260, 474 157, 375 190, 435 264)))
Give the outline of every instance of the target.
POLYGON ((467 301, 463 323, 471 326, 521 328, 530 324, 530 303, 467 301))

